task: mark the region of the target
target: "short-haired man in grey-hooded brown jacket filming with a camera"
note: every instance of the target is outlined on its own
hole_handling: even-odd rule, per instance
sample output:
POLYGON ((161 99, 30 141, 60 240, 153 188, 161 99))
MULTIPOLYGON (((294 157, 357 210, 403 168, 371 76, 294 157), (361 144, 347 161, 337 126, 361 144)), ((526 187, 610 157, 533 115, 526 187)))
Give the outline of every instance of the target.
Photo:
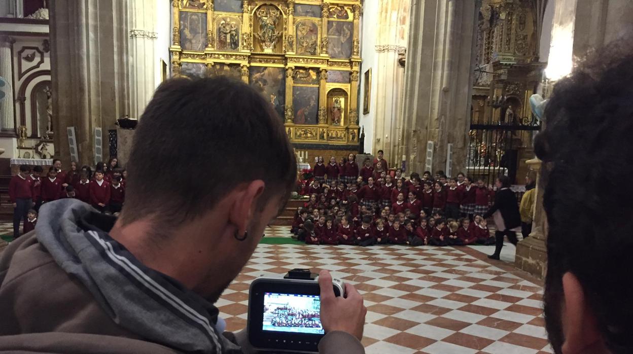
MULTIPOLYGON (((0 351, 249 352, 213 303, 294 187, 282 120, 242 82, 168 80, 139 120, 128 166, 118 219, 76 199, 47 203, 37 230, 6 248, 0 351), (230 163, 204 162, 217 156, 230 163), (165 161, 180 173, 163 173, 165 161)), ((335 297, 329 272, 319 282, 320 352, 363 353, 363 298, 350 284, 335 297)))

